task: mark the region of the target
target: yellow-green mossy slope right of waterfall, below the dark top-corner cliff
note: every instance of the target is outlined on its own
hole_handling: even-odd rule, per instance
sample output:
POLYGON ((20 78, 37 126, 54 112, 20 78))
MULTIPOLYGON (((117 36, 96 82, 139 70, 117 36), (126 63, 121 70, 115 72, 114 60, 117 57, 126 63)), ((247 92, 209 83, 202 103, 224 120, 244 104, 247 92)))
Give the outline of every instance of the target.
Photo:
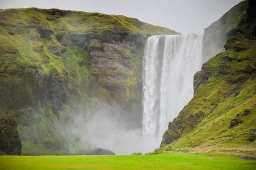
MULTIPOLYGON (((211 75, 205 82, 201 81, 203 71, 196 73, 194 97, 171 123, 177 127, 181 137, 166 147, 256 146, 255 142, 249 141, 256 129, 256 79, 255 69, 251 69, 256 61, 256 42, 237 39, 230 43, 230 46, 239 44, 246 50, 230 48, 211 58, 203 65, 203 68, 211 68, 211 75), (230 126, 232 120, 237 120, 236 126, 230 126)), ((169 127, 169 134, 173 129, 169 127)), ((166 140, 165 135, 162 142, 166 140)))

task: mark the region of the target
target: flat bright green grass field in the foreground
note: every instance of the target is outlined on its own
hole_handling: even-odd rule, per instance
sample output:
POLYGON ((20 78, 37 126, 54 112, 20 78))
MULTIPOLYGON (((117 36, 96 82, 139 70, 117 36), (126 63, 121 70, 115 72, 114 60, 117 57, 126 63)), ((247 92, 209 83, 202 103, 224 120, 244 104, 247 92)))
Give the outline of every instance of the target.
POLYGON ((192 154, 0 156, 0 169, 256 169, 256 160, 192 154))

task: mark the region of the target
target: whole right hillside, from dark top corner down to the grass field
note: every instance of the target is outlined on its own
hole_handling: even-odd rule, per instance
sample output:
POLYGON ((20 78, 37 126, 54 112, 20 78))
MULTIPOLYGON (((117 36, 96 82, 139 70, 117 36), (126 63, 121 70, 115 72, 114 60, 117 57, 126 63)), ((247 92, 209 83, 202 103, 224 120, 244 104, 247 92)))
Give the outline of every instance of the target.
MULTIPOLYGON (((255 157, 256 41, 250 39, 256 35, 255 18, 251 18, 255 8, 253 1, 244 1, 230 10, 238 13, 226 29, 225 52, 209 59, 195 74, 194 97, 169 123, 155 152, 232 152, 255 157)), ((224 22, 229 12, 216 23, 224 22)))

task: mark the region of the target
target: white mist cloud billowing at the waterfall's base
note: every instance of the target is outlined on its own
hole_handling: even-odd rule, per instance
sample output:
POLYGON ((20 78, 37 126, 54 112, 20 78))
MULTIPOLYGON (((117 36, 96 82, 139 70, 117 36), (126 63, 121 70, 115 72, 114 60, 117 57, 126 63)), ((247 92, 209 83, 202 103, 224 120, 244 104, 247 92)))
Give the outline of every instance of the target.
MULTIPOLYGON (((69 152, 94 154, 98 148, 114 151, 116 155, 131 155, 133 152, 152 152, 161 141, 142 135, 142 129, 129 121, 123 111, 95 100, 95 108, 74 116, 73 123, 61 125, 65 136, 74 135, 69 152)), ((138 113, 138 115, 141 113, 138 113)), ((136 117, 135 117, 136 118, 136 117)))

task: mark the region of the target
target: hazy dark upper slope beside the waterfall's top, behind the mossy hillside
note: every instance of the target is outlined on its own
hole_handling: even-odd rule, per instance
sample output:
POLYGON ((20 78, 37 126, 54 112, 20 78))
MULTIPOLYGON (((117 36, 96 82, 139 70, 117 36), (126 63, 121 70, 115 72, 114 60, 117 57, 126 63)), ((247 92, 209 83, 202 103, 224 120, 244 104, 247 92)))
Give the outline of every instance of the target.
MULTIPOLYGON (((223 52, 226 40, 236 32, 242 33, 246 38, 256 35, 256 3, 255 1, 242 1, 232 7, 219 20, 204 29, 203 55, 205 58, 223 52)), ((203 61, 203 63, 206 61, 203 61)))

